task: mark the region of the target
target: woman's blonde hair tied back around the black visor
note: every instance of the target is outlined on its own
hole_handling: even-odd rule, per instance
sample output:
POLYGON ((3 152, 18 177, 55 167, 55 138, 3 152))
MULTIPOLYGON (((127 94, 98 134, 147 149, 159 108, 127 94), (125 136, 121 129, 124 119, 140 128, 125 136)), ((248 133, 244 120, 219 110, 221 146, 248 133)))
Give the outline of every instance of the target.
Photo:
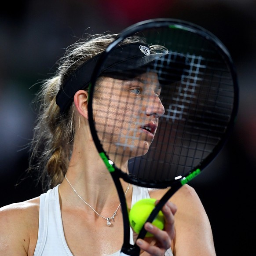
MULTIPOLYGON (((29 171, 37 170, 43 189, 61 183, 67 172, 73 150, 75 134, 75 107, 72 103, 68 113, 62 115, 55 100, 59 89, 81 64, 104 51, 118 34, 89 35, 66 50, 59 60, 55 75, 44 80, 37 93, 38 117, 31 141, 29 171)), ((140 37, 130 37, 121 44, 145 43, 140 37)), ((152 49, 157 47, 152 46, 152 49)), ((161 47, 158 47, 158 50, 161 47)))

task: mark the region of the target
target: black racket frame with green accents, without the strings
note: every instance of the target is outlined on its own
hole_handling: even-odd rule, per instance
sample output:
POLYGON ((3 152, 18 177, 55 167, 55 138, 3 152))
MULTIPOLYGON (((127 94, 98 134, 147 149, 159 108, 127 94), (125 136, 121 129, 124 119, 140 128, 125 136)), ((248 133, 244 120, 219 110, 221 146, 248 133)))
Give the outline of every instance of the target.
MULTIPOLYGON (((229 51, 227 48, 223 45, 223 43, 211 32, 208 30, 202 28, 201 26, 197 26, 191 22, 179 20, 179 19, 172 19, 172 18, 156 18, 156 19, 150 19, 143 22, 138 22, 132 26, 129 26, 128 28, 124 29, 120 35, 117 37, 116 40, 114 40, 102 53, 102 55, 99 58, 99 62, 96 64, 94 72, 92 73, 91 82, 89 84, 89 97, 88 97, 88 121, 89 126, 91 129, 91 135, 94 139, 95 146, 99 152, 100 157, 102 158, 103 162, 106 165, 106 168, 110 172, 113 182, 115 183, 117 193, 121 202, 121 209, 123 214, 123 224, 124 224, 124 241, 123 246, 121 249, 121 255, 139 255, 139 247, 135 245, 131 245, 129 243, 130 241, 130 224, 129 224, 129 218, 128 218, 128 211, 127 211, 127 203, 126 198, 124 195, 124 191, 121 185, 120 178, 128 183, 132 183, 133 185, 141 186, 141 187, 151 187, 151 188, 167 188, 169 187, 168 184, 163 183, 162 186, 157 184, 157 187, 154 183, 138 183, 138 180, 133 178, 132 176, 128 176, 128 174, 122 172, 117 168, 117 166, 109 159, 106 152, 103 150, 102 145, 99 141, 97 132, 95 130, 95 125, 93 121, 93 110, 92 110, 92 102, 93 99, 91 95, 93 95, 95 83, 97 80, 97 77, 99 76, 99 70, 100 66, 104 63, 104 60, 107 58, 107 56, 111 53, 112 49, 115 48, 121 41, 123 41, 126 37, 132 36, 135 33, 144 30, 144 29, 150 29, 150 28, 160 28, 160 27, 166 27, 173 29, 185 29, 187 31, 190 31, 192 33, 196 33, 200 37, 204 37, 208 42, 212 44, 216 44, 220 51, 223 52, 222 57, 224 58, 225 62, 230 68, 230 73, 233 78, 234 82, 234 103, 233 103, 233 110, 230 116, 230 122, 227 125, 227 130, 225 133, 225 136, 223 136, 219 143, 215 146, 215 148, 212 150, 212 152, 195 168, 193 168, 187 176, 181 177, 176 180, 176 182, 172 183, 172 186, 168 189, 168 191, 165 193, 165 195, 160 199, 159 203, 155 206, 153 211, 150 213, 150 216, 146 220, 146 222, 152 223, 157 213, 161 210, 161 208, 165 205, 165 203, 169 200, 170 197, 172 197, 173 194, 176 193, 179 188, 181 188, 184 184, 190 182, 190 180, 194 179, 198 174, 201 173, 201 171, 208 166, 208 164, 218 155, 219 151, 223 148, 224 144, 227 141, 227 138, 230 135, 230 132, 232 131, 232 128, 234 126, 234 123, 236 122, 236 117, 238 113, 238 79, 237 79, 237 73, 234 68, 234 63, 231 59, 231 56, 229 54, 229 51)), ((138 238, 144 238, 146 235, 146 230, 144 227, 141 229, 138 238)), ((137 239, 138 239, 137 238, 137 239)))

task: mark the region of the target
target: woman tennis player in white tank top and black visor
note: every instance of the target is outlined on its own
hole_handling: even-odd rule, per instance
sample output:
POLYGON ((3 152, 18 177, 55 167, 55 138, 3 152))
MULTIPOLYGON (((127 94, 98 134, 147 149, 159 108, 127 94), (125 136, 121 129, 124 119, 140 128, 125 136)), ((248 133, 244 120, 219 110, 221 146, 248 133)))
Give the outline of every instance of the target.
MULTIPOLYGON (((113 34, 94 35, 73 44, 60 59, 55 75, 42 84, 37 101, 40 112, 31 143, 30 169, 40 170, 41 179, 47 184, 46 193, 0 209, 0 255, 120 254, 124 228, 120 201, 91 138, 87 109, 88 84, 97 56, 116 37, 113 34), (81 81, 74 79, 80 76, 83 77, 81 81)), ((117 54, 139 51, 138 45, 150 48, 137 37, 126 39, 124 44, 125 47, 117 54)), ((124 72, 119 66, 121 64, 116 63, 116 71, 112 69, 113 64, 107 66, 106 63, 109 72, 102 73, 97 85, 95 122, 99 130, 102 129, 102 136, 124 143, 126 147, 123 146, 122 150, 129 151, 132 158, 146 153, 157 131, 158 119, 165 111, 159 98, 159 77, 153 71, 150 77, 145 77, 142 69, 135 77, 124 80, 119 76, 119 71, 124 72), (113 80, 117 86, 110 91, 109 84, 113 80), (141 109, 129 108, 129 100, 137 99, 141 94, 150 97, 152 104, 142 104, 141 109), (116 101, 120 97, 127 98, 127 104, 116 101), (100 108, 101 100, 106 99, 108 111, 100 108), (109 123, 103 133, 100 120, 106 112, 109 123), (133 115, 138 113, 147 122, 133 122, 132 127, 128 126, 133 115), (119 121, 120 130, 112 129, 113 120, 119 121), (124 141, 123 138, 134 132, 138 133, 137 141, 124 141)), ((141 65, 148 64, 150 59, 141 65)), ((119 160, 119 165, 128 161, 119 160)), ((132 186, 125 181, 122 181, 122 187, 128 208, 142 198, 160 199, 166 191, 132 186)), ((192 187, 184 185, 165 204, 162 212, 165 216, 164 230, 146 223, 145 229, 153 237, 136 241, 141 255, 216 255, 208 216, 192 187)), ((135 236, 131 233, 131 242, 135 236)))

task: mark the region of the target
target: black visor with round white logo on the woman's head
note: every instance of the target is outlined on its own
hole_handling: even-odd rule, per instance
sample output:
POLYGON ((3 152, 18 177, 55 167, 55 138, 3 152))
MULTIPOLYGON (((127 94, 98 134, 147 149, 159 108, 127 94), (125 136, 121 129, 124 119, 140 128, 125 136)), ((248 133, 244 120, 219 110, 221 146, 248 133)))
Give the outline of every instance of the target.
MULTIPOLYGON (((91 75, 101 54, 95 55, 79 66, 62 85, 56 103, 61 113, 66 113, 75 93, 88 87, 91 75)), ((160 84, 172 84, 187 76, 190 68, 188 59, 179 53, 152 53, 147 44, 130 43, 120 45, 110 52, 99 75, 127 80, 150 68, 158 74, 160 84)))

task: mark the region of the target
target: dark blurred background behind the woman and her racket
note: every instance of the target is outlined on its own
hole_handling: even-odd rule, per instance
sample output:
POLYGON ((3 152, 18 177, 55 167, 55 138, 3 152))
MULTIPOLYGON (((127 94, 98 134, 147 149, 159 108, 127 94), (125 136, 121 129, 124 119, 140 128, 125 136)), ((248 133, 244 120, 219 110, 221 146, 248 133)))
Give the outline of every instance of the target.
MULTIPOLYGON (((256 2, 254 0, 24 0, 0 8, 0 206, 41 193, 25 178, 38 82, 85 33, 119 33, 150 18, 203 26, 229 49, 240 106, 222 152, 192 185, 205 206, 217 256, 252 256, 256 228, 256 2), (18 185, 17 185, 18 184, 18 185)), ((185 243, 186 241, 184 241, 185 243)))

